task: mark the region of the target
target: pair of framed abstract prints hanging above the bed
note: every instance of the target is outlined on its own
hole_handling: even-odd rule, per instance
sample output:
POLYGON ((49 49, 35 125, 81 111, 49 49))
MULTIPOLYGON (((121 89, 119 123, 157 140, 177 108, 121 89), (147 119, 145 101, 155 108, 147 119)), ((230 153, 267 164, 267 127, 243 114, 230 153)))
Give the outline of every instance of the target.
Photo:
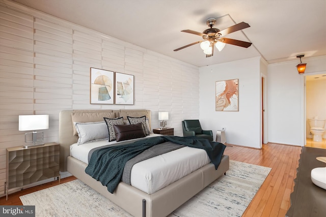
POLYGON ((91 104, 133 105, 133 75, 91 68, 91 104))

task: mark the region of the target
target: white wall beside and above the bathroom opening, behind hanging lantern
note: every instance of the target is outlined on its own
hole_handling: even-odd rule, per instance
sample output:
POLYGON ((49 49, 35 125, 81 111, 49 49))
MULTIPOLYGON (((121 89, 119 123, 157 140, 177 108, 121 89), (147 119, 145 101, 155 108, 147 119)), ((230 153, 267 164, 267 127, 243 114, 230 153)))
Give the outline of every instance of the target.
POLYGON ((326 56, 303 58, 305 74, 299 75, 297 60, 268 65, 268 141, 305 145, 306 111, 304 76, 326 71, 326 56))

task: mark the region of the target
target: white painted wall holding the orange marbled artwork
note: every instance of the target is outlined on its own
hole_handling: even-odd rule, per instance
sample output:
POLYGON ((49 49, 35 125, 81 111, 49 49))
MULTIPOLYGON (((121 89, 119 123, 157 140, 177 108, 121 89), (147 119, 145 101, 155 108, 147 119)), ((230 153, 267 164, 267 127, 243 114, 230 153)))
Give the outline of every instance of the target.
POLYGON ((261 147, 260 57, 202 67, 200 122, 204 130, 226 129, 227 143, 261 147), (239 111, 215 111, 215 82, 239 79, 239 111))

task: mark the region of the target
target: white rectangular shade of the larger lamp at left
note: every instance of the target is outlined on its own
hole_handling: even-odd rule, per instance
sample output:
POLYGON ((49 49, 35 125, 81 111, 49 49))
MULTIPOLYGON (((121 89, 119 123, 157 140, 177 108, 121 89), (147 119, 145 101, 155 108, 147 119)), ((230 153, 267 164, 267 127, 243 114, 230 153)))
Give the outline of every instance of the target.
POLYGON ((19 131, 43 130, 49 128, 49 115, 19 115, 19 131))

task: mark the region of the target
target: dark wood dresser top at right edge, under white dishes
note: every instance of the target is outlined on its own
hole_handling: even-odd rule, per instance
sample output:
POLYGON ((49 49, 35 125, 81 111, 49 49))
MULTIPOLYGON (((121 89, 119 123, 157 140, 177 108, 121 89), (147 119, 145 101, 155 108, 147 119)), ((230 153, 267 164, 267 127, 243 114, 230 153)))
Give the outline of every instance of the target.
POLYGON ((288 217, 324 217, 326 216, 326 190, 319 188, 311 181, 311 170, 326 167, 317 157, 326 157, 326 149, 303 147, 299 167, 294 179, 294 190, 291 193, 291 207, 288 217))

